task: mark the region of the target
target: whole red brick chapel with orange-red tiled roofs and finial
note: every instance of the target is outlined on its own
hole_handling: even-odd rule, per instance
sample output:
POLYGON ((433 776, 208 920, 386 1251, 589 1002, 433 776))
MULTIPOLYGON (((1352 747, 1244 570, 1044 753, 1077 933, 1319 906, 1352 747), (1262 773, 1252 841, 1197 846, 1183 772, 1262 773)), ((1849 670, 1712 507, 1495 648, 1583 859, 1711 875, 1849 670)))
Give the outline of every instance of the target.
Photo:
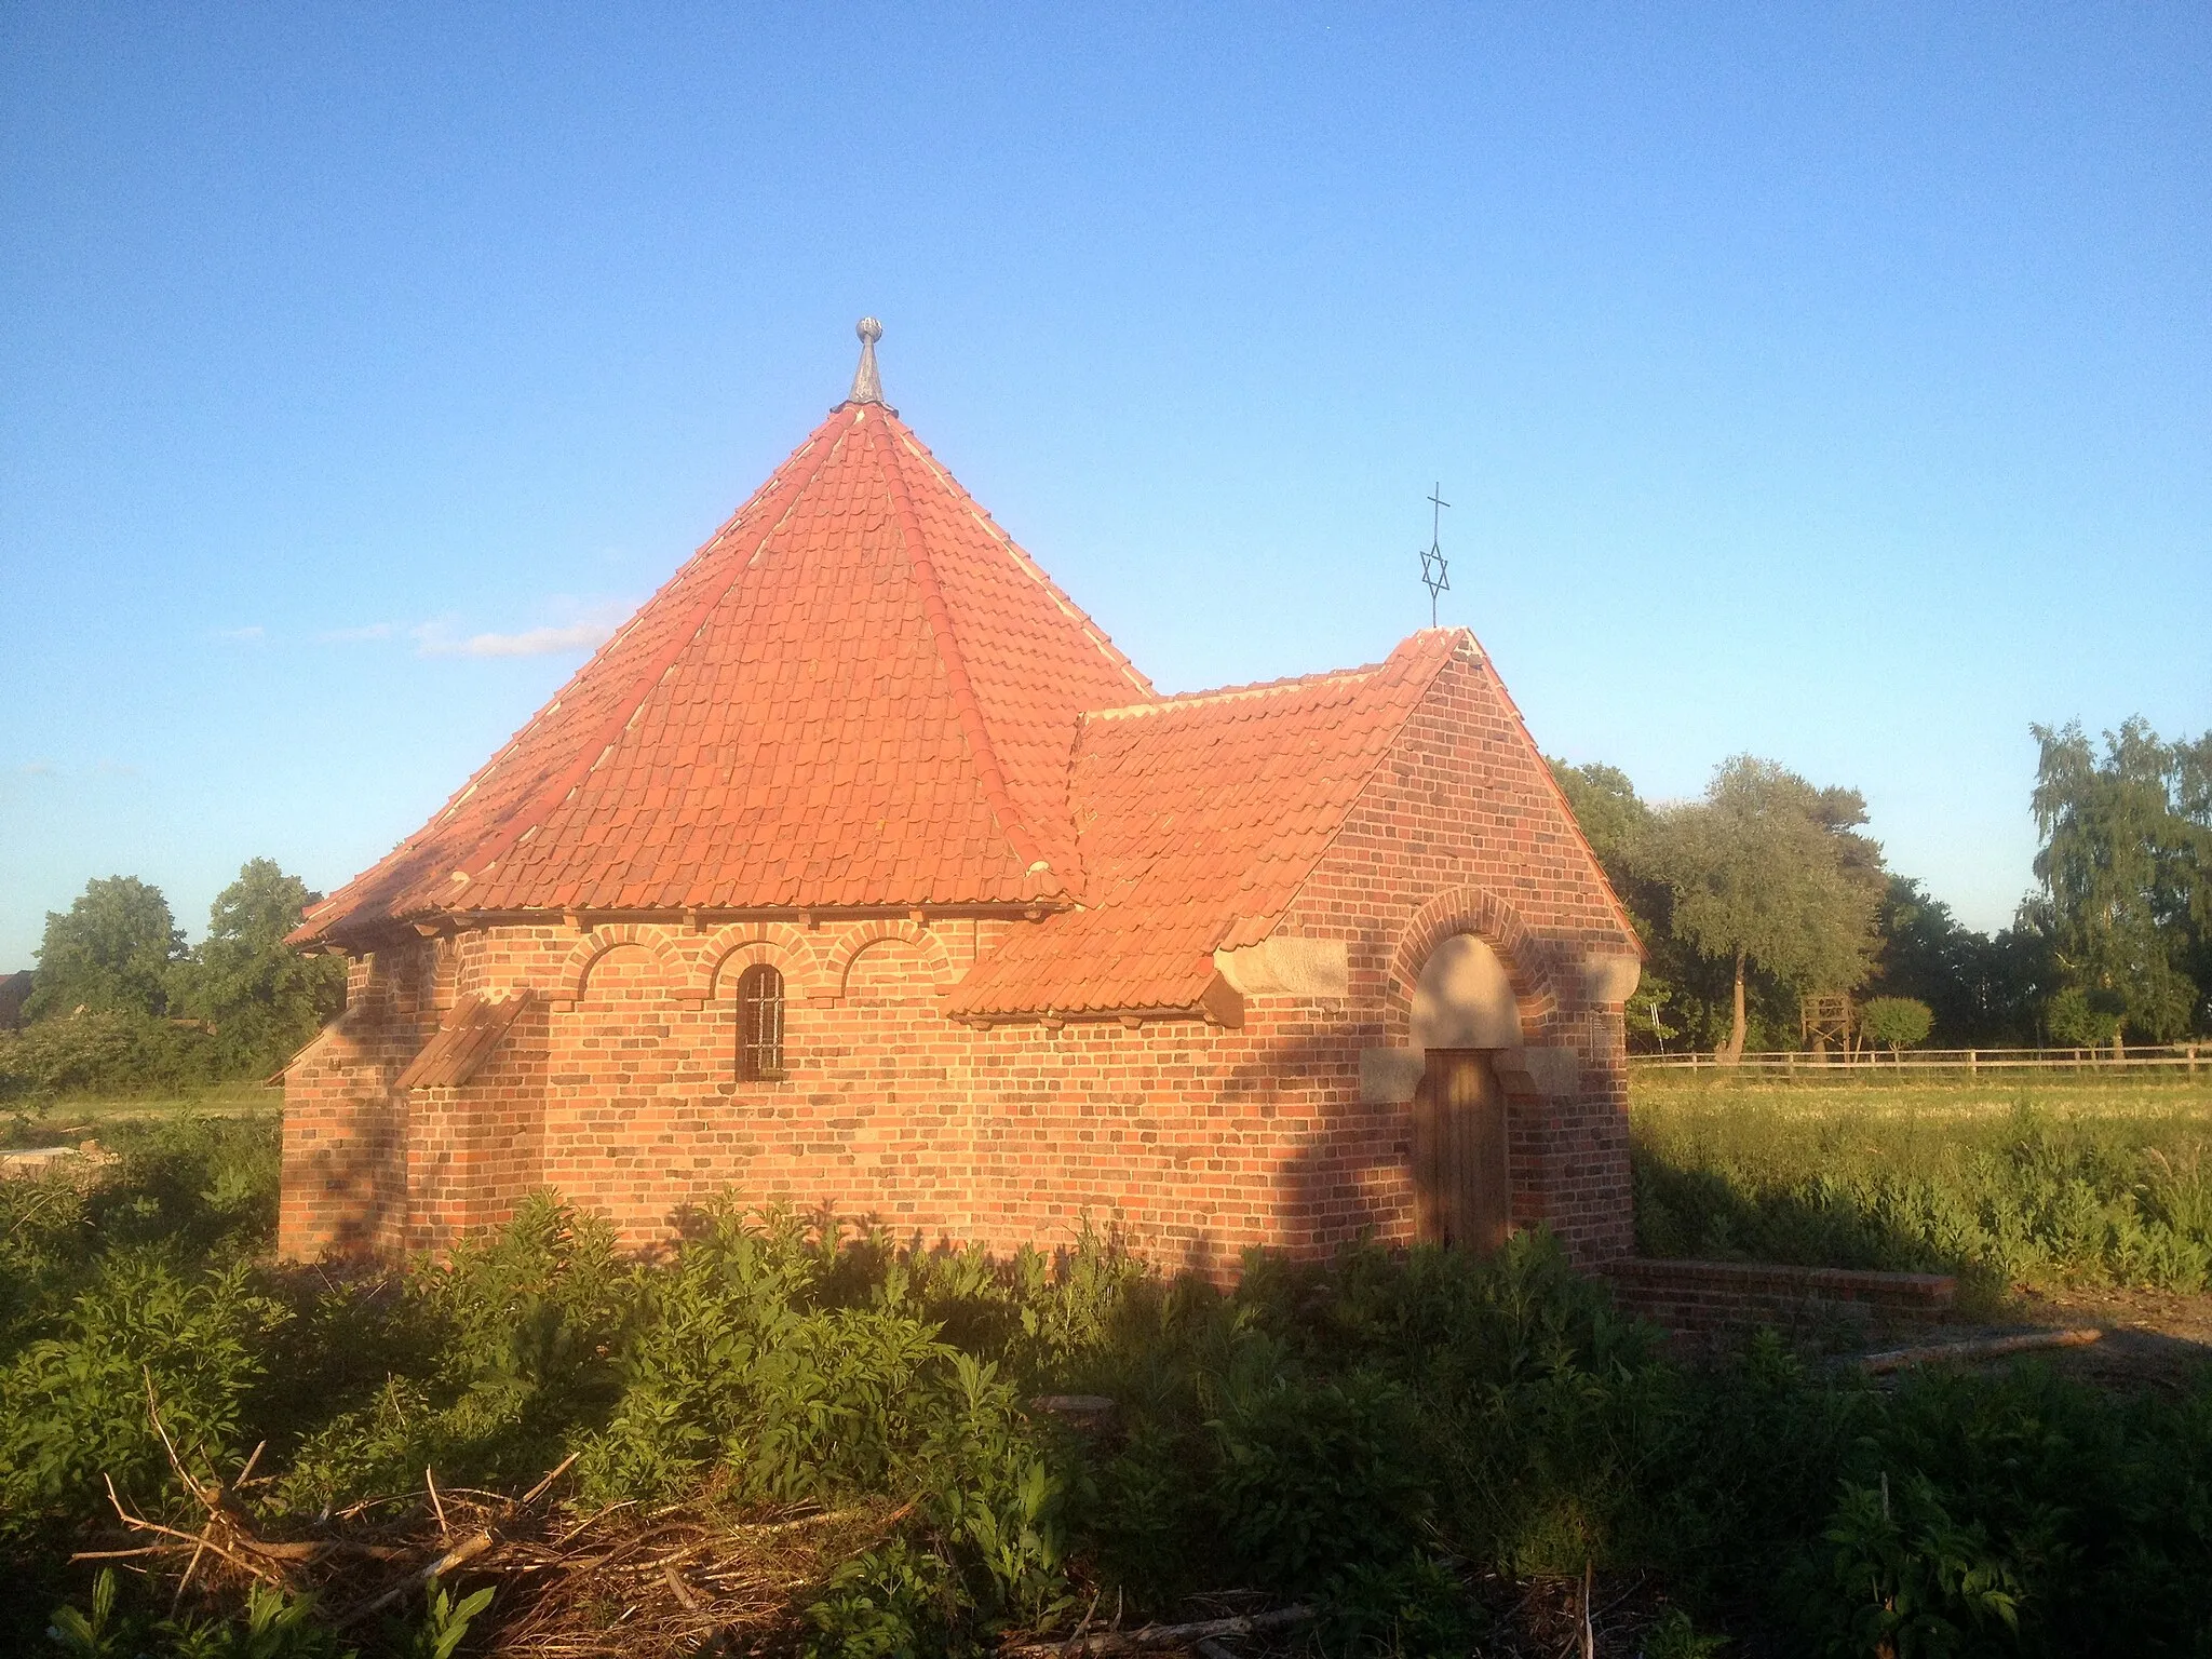
POLYGON ((316 905, 281 1248, 553 1188, 1166 1267, 1551 1225, 1626 1256, 1641 951, 1489 655, 1161 695, 852 396, 316 905))

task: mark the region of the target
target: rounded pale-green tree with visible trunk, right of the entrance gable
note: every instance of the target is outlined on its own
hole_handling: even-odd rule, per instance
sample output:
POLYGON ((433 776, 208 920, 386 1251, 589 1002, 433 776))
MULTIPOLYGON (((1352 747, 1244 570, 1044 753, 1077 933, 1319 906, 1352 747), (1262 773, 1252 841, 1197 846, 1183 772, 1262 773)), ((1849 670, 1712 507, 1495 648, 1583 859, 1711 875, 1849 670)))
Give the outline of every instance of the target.
POLYGON ((1856 790, 1816 790, 1774 761, 1739 754, 1705 799, 1661 810, 1644 838, 1646 869, 1672 894, 1672 929, 1732 969, 1725 1062, 1743 1057, 1745 975, 1798 991, 1849 991, 1867 978, 1880 847, 1856 790))

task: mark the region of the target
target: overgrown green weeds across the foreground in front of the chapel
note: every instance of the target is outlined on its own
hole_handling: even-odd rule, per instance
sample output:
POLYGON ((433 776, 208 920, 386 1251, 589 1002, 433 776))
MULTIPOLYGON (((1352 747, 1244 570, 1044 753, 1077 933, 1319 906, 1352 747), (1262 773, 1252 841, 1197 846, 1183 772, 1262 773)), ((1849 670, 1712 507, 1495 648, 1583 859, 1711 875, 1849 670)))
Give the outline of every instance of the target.
MULTIPOLYGON (((2121 1259, 2104 1210, 2064 1219, 2070 1181, 2132 1181, 2157 1225, 2199 1225, 2181 1141, 2161 1161, 2006 1130, 1978 1155, 2042 1206, 2039 1239, 2121 1259)), ((993 1259, 728 1203, 646 1261, 540 1194, 440 1263, 279 1270, 254 1256, 272 1183, 230 1133, 0 1186, 0 1528, 22 1564, 0 1644, 458 1659, 520 1617, 465 1579, 427 1621, 338 1641, 301 1595, 204 1577, 173 1617, 168 1586, 66 1566, 133 1542, 106 1478, 190 1522, 177 1467, 234 1478, 257 1444, 265 1478, 234 1498, 265 1537, 414 1515, 438 1540, 425 1469, 515 1493, 571 1453, 571 1513, 533 1537, 611 1515, 606 1555, 622 1515, 681 1504, 728 1562, 763 1517, 843 1517, 748 1626, 818 1655, 978 1652, 1228 1590, 1316 1604, 1327 1652, 1467 1652, 1491 1617, 1471 1586, 1593 1566, 1663 1575, 1708 1626, 1655 1626, 1655 1652, 1710 1652, 1714 1621, 1900 1655, 2203 1655, 2212 1630, 2212 1387, 2112 1400, 2020 1367, 1885 1391, 1778 1340, 1688 1371, 1542 1234, 1486 1261, 1252 1256, 1221 1287, 1091 1234, 993 1259), (1051 1394, 1106 1396, 1110 1420, 1033 1405, 1051 1394)))

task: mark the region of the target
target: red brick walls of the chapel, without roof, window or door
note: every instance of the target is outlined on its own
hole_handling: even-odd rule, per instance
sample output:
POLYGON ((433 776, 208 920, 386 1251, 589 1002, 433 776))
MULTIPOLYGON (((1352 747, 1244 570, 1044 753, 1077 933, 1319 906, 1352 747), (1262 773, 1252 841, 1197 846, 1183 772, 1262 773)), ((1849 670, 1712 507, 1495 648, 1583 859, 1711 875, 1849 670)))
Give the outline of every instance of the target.
POLYGON ((1564 1062, 1504 1068, 1515 1217, 1577 1259, 1624 1254, 1621 1018, 1579 964, 1626 942, 1540 768, 1489 668, 1447 668, 1279 927, 1345 940, 1347 995, 1248 998, 1241 1029, 945 1020, 938 993, 1022 925, 1002 916, 502 925, 374 951, 288 1075, 281 1245, 438 1248, 535 1186, 633 1243, 726 1188, 993 1248, 1088 1221, 1212 1274, 1250 1245, 1405 1241, 1411 1108, 1363 1099, 1360 1053, 1409 1042, 1427 951, 1478 931, 1524 1044, 1564 1062), (752 962, 785 978, 781 1082, 737 1079, 752 962), (394 1095, 440 1009, 522 987, 538 1000, 467 1086, 394 1095))

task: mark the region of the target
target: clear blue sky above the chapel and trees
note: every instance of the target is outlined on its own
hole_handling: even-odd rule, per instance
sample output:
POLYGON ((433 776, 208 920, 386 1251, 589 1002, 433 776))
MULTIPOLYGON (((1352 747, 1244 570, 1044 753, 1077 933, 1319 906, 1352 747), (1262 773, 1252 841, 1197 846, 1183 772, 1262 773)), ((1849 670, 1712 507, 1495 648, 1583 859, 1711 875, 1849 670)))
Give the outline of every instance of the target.
POLYGON ((414 830, 843 394, 1166 688, 1444 622, 1980 925, 2212 726, 2212 11, 0 11, 0 969, 414 830))

